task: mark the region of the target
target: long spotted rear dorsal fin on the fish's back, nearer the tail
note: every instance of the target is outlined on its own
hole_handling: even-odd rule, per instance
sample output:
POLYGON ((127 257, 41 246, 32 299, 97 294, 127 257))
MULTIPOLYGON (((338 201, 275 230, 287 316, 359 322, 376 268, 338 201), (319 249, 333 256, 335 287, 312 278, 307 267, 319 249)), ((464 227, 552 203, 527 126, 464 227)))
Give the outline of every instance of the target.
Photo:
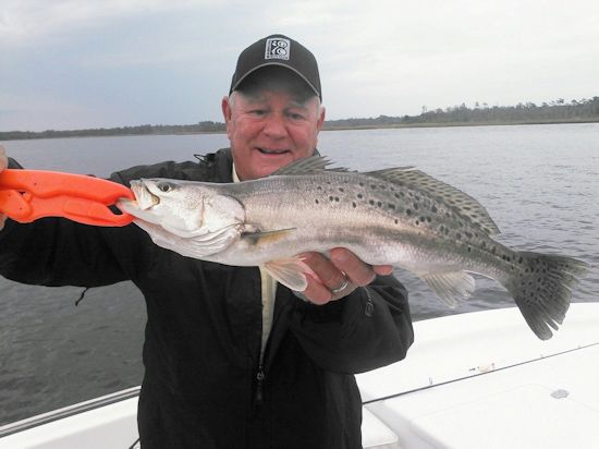
POLYGON ((383 179, 400 186, 416 189, 451 207, 455 213, 467 218, 489 235, 498 234, 499 228, 487 209, 475 198, 461 190, 432 178, 411 167, 398 167, 364 173, 368 177, 383 179))

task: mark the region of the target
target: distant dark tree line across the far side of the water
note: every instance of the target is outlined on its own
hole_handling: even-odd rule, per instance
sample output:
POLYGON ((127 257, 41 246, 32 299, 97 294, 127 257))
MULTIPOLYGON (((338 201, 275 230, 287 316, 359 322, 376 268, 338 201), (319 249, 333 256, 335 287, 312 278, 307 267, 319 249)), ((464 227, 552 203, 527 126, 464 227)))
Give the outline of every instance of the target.
MULTIPOLYGON (((445 109, 429 110, 423 106, 418 116, 379 116, 377 118, 352 118, 328 120, 325 130, 365 129, 365 128, 400 128, 400 126, 435 126, 435 125, 476 125, 476 124, 516 124, 516 123, 563 123, 563 122, 599 122, 599 97, 565 101, 558 98, 549 102, 518 102, 516 106, 489 106, 476 102, 473 107, 465 104, 445 109)), ((100 128, 87 130, 41 132, 7 131, 0 132, 0 141, 83 137, 83 136, 119 136, 148 134, 197 134, 222 133, 224 123, 203 121, 195 124, 150 125, 122 128, 100 128)))

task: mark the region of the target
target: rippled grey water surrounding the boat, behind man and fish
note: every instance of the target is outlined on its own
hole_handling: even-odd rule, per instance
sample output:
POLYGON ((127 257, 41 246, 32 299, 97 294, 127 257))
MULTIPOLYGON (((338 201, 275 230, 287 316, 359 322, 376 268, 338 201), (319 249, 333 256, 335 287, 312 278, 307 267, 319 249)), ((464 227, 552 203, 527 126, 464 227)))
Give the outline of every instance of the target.
MULTIPOLYGON (((227 143, 212 134, 2 144, 28 168, 105 177, 227 143)), ((487 207, 502 243, 591 264, 574 301, 599 301, 599 124, 323 132, 319 148, 352 169, 416 166, 462 189, 487 207)), ((480 278, 473 299, 448 310, 418 279, 396 275, 415 319, 513 305, 499 284, 480 278)), ((140 294, 122 282, 89 290, 75 307, 81 291, 0 278, 0 425, 140 383, 140 294)))

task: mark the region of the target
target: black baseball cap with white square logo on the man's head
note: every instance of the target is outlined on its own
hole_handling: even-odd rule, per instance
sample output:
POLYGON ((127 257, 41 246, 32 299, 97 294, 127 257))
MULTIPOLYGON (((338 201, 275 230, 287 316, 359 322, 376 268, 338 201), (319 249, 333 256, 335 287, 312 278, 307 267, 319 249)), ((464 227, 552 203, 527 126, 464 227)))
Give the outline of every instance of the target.
POLYGON ((229 95, 240 86, 247 75, 269 65, 283 66, 293 71, 322 101, 316 58, 302 44, 281 34, 267 36, 241 52, 233 80, 231 80, 229 95))

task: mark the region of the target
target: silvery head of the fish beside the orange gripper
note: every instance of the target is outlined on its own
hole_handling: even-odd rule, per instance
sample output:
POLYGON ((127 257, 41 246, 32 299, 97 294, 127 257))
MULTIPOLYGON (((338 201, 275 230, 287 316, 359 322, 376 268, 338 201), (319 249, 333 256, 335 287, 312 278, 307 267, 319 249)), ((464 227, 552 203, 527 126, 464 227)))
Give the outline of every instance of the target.
POLYGON ((120 199, 121 210, 181 238, 211 235, 241 227, 245 219, 243 205, 218 184, 142 179, 132 181, 131 190, 135 199, 120 199))

